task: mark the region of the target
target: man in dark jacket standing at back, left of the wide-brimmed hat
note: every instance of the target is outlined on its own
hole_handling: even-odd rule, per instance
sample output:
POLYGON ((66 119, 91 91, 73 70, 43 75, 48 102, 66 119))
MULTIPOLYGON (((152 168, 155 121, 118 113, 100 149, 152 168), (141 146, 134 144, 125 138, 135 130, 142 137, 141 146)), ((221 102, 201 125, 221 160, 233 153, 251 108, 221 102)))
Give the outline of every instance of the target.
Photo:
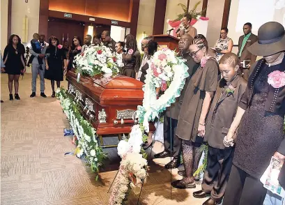
POLYGON ((243 25, 243 33, 238 40, 238 59, 242 65, 243 78, 248 80, 250 66, 256 61, 256 56, 247 50, 247 47, 257 41, 257 36, 252 33, 252 24, 243 25))

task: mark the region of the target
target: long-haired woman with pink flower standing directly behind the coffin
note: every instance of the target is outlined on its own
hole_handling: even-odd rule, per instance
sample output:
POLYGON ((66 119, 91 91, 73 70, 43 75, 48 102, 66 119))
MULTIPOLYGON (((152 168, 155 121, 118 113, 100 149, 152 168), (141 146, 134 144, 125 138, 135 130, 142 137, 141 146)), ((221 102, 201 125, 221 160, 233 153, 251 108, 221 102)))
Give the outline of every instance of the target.
POLYGON ((127 52, 123 54, 124 66, 121 75, 137 78, 141 66, 141 54, 137 49, 137 40, 132 34, 125 36, 125 47, 127 52))

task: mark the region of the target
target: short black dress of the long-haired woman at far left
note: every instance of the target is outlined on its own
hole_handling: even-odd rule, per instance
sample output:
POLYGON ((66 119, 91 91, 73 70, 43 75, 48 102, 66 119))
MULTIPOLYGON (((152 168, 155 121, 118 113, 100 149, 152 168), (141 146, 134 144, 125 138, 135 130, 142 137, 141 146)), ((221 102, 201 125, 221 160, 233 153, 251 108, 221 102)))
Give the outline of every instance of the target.
POLYGON ((3 61, 5 62, 7 56, 8 59, 5 63, 5 70, 8 75, 20 75, 21 70, 24 69, 23 63, 21 61, 21 56, 23 56, 24 51, 21 45, 17 45, 17 49, 13 45, 7 45, 4 54, 3 61))

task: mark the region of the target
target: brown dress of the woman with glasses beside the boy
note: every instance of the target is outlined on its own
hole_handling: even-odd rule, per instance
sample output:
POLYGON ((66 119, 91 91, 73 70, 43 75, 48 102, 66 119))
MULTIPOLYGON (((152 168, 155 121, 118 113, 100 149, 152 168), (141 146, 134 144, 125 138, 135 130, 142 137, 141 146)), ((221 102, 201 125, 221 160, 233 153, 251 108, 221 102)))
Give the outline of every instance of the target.
MULTIPOLYGON (((217 61, 211 58, 206 65, 198 68, 190 79, 185 91, 185 98, 180 109, 176 135, 180 139, 197 141, 197 131, 203 100, 207 92, 215 92, 217 88, 217 61)), ((203 142, 203 139, 202 141, 203 142)))

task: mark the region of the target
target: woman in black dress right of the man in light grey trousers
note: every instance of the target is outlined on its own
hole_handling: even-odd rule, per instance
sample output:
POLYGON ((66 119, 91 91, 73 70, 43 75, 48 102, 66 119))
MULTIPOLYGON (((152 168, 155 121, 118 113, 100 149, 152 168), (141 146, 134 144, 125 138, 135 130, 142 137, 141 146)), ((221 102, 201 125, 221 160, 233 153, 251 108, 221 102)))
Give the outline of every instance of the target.
POLYGON ((63 81, 63 63, 66 65, 66 53, 62 49, 62 46, 59 45, 59 39, 52 36, 49 38, 49 47, 47 47, 45 54, 47 54, 45 79, 50 79, 52 84, 52 98, 54 98, 54 81, 56 81, 56 86, 59 88, 61 81, 63 81))

